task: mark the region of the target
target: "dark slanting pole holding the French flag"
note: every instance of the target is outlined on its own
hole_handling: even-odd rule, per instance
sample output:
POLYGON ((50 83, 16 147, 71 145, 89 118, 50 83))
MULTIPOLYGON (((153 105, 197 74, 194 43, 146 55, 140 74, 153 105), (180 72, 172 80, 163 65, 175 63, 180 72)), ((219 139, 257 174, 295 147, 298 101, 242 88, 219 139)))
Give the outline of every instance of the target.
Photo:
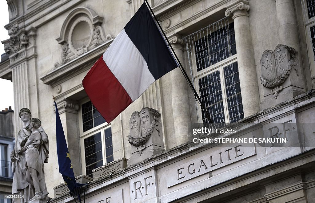
POLYGON ((206 110, 206 108, 204 107, 204 105, 203 105, 203 103, 202 103, 202 101, 201 101, 199 95, 197 94, 197 91, 195 90, 195 88, 194 88, 192 82, 190 81, 190 79, 189 79, 189 77, 188 77, 188 75, 187 75, 185 69, 184 69, 183 66, 181 65, 180 60, 178 59, 178 57, 177 57, 177 55, 176 55, 176 53, 175 53, 173 47, 172 47, 171 44, 169 43, 169 39, 166 37, 165 32, 163 31, 161 25, 158 23, 157 17, 156 17, 155 14, 153 13, 153 10, 151 9, 151 6, 149 5, 149 3, 148 3, 147 0, 144 0, 144 1, 146 2, 146 5, 149 7, 151 13, 153 14, 153 17, 154 17, 154 19, 155 19, 155 21, 156 21, 156 24, 157 24, 157 25, 159 26, 159 28, 161 29, 161 31, 162 31, 162 33, 163 33, 163 35, 164 35, 164 37, 165 37, 167 43, 168 43, 169 46, 171 47, 172 52, 173 52, 173 54, 175 55, 176 60, 178 61, 179 65, 180 65, 180 70, 181 70, 181 72, 183 73, 184 77, 186 78, 186 80, 187 80, 187 82, 188 82, 188 84, 189 84, 190 89, 192 90, 193 94, 195 95, 196 100, 199 101, 199 104, 200 104, 201 108, 203 109, 203 112, 204 112, 205 115, 207 116, 208 121, 209 121, 210 123, 213 123, 213 121, 212 121, 212 119, 211 119, 211 117, 210 117, 210 115, 209 115, 209 112, 208 112, 208 111, 206 110))

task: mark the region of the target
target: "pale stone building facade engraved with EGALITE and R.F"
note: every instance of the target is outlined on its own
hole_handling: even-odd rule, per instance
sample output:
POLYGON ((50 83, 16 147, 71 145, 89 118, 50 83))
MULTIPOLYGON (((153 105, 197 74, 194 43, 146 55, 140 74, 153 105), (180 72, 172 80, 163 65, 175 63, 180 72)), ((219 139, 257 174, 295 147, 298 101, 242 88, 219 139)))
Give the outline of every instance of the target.
MULTIPOLYGON (((80 182, 90 182, 87 202, 315 201, 312 1, 149 0, 214 121, 236 127, 229 137, 287 141, 274 146, 192 142, 193 124, 209 120, 178 68, 106 123, 82 79, 143 1, 7 3, 10 39, 2 43, 9 62, 1 62, 0 77, 13 81, 15 109, 28 107, 49 136, 45 174, 51 202, 74 202, 60 184, 51 95, 74 173, 80 182), (279 70, 268 72, 268 60, 279 70), (281 82, 270 82, 273 76, 281 82), (160 113, 155 136, 163 139, 146 145, 162 149, 130 161, 139 150, 128 141, 129 119, 143 107, 160 113)), ((15 135, 22 126, 17 113, 15 135)))

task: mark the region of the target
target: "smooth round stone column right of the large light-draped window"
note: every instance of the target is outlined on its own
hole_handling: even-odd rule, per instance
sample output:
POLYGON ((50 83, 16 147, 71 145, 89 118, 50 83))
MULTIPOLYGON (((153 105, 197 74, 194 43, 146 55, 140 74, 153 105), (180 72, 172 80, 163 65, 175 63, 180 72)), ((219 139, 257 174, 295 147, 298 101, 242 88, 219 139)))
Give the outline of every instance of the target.
POLYGON ((252 36, 249 26, 248 1, 240 0, 227 7, 226 16, 234 20, 238 73, 242 92, 244 117, 260 110, 260 98, 252 36))

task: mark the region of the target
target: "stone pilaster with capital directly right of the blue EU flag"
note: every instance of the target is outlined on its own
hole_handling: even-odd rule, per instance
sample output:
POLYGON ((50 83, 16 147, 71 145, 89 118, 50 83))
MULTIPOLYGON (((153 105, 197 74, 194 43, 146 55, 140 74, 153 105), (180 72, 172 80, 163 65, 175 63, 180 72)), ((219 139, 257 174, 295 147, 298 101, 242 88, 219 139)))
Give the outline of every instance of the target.
MULTIPOLYGON (((68 144, 68 150, 71 155, 74 176, 79 176, 82 174, 79 122, 77 116, 79 105, 65 99, 57 101, 57 107, 68 144)), ((53 111, 56 112, 55 107, 53 107, 53 111)))

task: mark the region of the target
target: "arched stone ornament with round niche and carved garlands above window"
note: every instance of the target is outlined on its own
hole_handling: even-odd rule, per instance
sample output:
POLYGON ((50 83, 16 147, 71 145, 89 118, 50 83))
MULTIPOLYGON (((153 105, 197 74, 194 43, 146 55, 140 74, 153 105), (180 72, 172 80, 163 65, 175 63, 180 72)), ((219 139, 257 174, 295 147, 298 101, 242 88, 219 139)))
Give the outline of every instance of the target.
POLYGON ((86 7, 73 9, 61 28, 57 42, 62 45, 60 59, 54 63, 54 69, 89 52, 90 50, 112 40, 110 34, 105 36, 100 26, 103 17, 86 7))

